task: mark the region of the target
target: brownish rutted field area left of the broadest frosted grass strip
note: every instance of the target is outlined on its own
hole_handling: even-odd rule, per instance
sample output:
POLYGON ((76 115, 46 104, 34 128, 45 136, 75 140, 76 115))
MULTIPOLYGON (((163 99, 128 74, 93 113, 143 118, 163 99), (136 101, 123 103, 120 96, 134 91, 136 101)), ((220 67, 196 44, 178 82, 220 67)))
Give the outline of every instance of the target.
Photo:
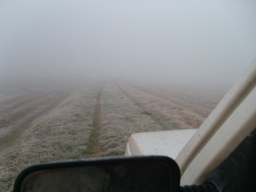
POLYGON ((0 152, 71 94, 70 89, 32 83, 3 83, 0 90, 0 152))

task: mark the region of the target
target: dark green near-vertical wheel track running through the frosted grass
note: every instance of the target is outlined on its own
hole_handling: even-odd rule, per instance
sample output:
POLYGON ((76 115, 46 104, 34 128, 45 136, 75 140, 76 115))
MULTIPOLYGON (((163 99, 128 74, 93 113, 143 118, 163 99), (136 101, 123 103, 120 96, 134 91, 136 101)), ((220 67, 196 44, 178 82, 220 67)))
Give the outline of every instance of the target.
POLYGON ((97 100, 95 105, 94 117, 93 117, 93 127, 92 132, 88 142, 88 156, 96 157, 100 152, 99 146, 99 136, 101 129, 101 92, 103 86, 99 89, 97 94, 97 100))

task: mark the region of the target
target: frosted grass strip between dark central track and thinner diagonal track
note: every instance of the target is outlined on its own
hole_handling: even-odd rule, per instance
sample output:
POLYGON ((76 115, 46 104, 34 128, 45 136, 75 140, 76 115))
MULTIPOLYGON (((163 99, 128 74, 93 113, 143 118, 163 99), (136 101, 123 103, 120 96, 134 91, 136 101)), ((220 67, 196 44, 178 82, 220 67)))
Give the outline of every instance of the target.
POLYGON ((107 83, 101 93, 100 153, 98 156, 124 155, 133 133, 161 131, 160 127, 115 83, 107 83))

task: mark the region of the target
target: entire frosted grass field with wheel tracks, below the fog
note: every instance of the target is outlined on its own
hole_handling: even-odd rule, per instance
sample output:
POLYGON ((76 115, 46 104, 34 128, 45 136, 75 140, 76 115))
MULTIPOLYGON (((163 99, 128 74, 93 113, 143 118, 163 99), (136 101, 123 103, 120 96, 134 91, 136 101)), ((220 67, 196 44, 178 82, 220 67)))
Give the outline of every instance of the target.
POLYGON ((119 156, 133 133, 198 128, 225 94, 115 81, 0 89, 0 191, 34 163, 119 156))

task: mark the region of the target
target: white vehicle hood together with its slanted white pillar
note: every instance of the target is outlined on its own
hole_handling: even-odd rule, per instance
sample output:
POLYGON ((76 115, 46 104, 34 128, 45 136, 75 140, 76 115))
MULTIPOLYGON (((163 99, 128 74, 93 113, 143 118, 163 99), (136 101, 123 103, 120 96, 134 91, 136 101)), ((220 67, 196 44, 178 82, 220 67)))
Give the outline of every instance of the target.
POLYGON ((162 140, 157 132, 150 134, 150 138, 154 138, 154 134, 158 137, 151 141, 146 140, 148 133, 140 133, 139 137, 134 134, 127 147, 130 147, 130 155, 167 155, 174 158, 181 170, 181 184, 200 184, 255 127, 256 60, 185 144, 180 142, 180 147, 177 147, 176 132, 171 131, 164 138, 167 141, 162 140), (146 148, 149 142, 148 147, 152 149, 146 148), (161 153, 156 153, 154 149, 160 147, 159 143, 161 153), (170 155, 172 150, 174 154, 170 155))

